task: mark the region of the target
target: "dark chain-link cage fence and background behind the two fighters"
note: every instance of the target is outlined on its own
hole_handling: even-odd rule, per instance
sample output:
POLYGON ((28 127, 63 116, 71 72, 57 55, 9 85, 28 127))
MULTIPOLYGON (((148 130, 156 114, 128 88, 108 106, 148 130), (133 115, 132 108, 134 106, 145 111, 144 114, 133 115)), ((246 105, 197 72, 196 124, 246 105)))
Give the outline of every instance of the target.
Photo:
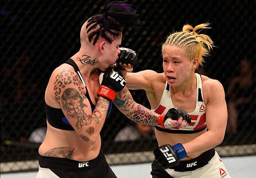
MULTIPOLYGON (((52 71, 80 49, 80 28, 92 15, 101 13, 109 0, 1 1, 1 162, 38 158, 38 144, 27 138, 46 126, 44 92, 52 71)), ((255 75, 255 1, 228 0, 133 0, 141 28, 124 31, 121 47, 138 52, 134 72, 163 72, 161 44, 170 32, 184 24, 210 22, 204 30, 215 43, 205 58, 202 74, 218 79, 224 89, 240 74, 240 61, 247 58, 255 75), (253 10, 254 9, 254 10, 253 10)), ((199 72, 200 73, 200 72, 199 72)), ((222 146, 253 144, 255 141, 255 78, 248 95, 250 104, 239 106, 237 133, 226 133, 222 146), (249 112, 249 117, 242 117, 249 112), (240 117, 241 116, 241 117, 240 117)), ((233 89, 235 97, 243 92, 233 89)), ((150 108, 145 92, 131 90, 136 102, 150 108)), ((229 102, 229 97, 226 101, 229 102)), ((113 107, 101 132, 104 153, 153 150, 156 140, 113 143, 115 134, 131 124, 113 107)))

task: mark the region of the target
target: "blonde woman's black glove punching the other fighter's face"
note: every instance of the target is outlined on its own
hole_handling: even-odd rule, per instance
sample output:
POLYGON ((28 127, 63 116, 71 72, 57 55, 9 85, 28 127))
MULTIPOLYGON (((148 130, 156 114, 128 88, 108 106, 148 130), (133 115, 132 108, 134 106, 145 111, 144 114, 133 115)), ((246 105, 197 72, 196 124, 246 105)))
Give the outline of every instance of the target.
POLYGON ((122 66, 119 65, 119 63, 122 63, 122 64, 131 64, 132 66, 134 66, 137 61, 138 61, 138 54, 131 50, 131 49, 128 49, 128 48, 125 48, 125 47, 120 47, 120 54, 118 55, 118 60, 117 60, 117 68, 119 70, 122 70, 122 66))

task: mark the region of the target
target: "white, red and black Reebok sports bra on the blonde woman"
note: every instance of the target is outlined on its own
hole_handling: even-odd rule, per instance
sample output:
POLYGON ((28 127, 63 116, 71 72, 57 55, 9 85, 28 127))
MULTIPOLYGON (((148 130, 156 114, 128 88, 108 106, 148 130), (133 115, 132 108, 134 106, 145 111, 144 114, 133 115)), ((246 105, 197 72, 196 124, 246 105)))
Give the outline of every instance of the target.
MULTIPOLYGON (((195 110, 192 113, 188 113, 188 115, 190 115, 191 117, 191 123, 187 127, 173 127, 170 129, 163 129, 155 126, 158 131, 167 133, 189 134, 203 131, 207 127, 205 117, 205 104, 202 90, 202 77, 200 74, 195 74, 197 76, 197 103, 195 110)), ((166 114, 168 110, 173 107, 174 106, 171 98, 170 85, 166 81, 165 90, 163 91, 161 101, 158 104, 158 107, 152 109, 151 111, 154 111, 157 114, 166 114)))

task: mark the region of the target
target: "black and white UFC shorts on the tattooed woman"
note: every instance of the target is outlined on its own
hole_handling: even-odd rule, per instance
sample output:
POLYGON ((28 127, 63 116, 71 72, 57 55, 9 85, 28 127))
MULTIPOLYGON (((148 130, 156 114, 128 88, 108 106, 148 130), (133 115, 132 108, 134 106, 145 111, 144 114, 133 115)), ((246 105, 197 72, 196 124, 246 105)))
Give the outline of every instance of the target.
POLYGON ((75 161, 57 157, 39 156, 37 177, 60 178, 117 178, 102 151, 90 161, 75 161))

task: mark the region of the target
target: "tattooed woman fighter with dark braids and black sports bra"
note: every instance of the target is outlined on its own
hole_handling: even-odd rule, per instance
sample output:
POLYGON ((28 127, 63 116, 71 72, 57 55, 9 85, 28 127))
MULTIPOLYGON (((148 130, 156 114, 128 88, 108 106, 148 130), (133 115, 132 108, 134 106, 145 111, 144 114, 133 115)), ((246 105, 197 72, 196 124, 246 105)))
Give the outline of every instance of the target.
MULTIPOLYGON (((116 93, 126 95, 125 79, 110 66, 118 59, 123 27, 137 26, 137 17, 129 4, 109 3, 103 14, 83 24, 80 50, 52 72, 45 91, 47 132, 39 147, 37 178, 116 177, 100 150, 100 131, 116 93), (100 71, 105 71, 101 85, 100 71)), ((181 117, 173 117, 178 120, 174 121, 171 115, 153 113, 135 102, 128 109, 134 110, 133 106, 143 111, 134 115, 152 125, 186 125, 181 117)))

